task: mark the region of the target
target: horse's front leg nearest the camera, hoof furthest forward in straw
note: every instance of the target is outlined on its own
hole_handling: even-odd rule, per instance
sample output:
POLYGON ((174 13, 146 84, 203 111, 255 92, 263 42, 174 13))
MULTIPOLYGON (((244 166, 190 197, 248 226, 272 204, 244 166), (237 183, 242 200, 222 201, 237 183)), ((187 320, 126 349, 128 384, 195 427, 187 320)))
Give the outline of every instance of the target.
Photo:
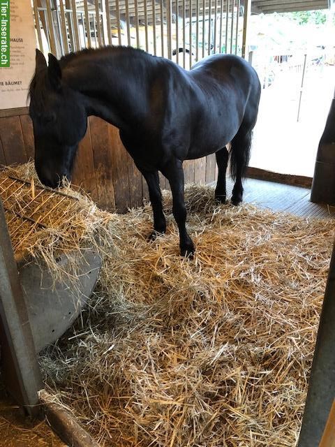
POLYGON ((181 256, 192 257, 194 244, 186 231, 186 207, 184 201, 184 171, 180 160, 173 159, 165 165, 163 175, 168 179, 172 191, 172 212, 179 229, 179 247, 181 256))

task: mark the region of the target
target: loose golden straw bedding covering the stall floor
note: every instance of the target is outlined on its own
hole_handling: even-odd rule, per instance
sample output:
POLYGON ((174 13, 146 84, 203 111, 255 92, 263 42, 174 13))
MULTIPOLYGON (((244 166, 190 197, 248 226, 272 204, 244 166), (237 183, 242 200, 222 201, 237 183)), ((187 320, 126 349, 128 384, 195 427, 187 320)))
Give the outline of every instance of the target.
POLYGON ((186 198, 193 261, 171 215, 151 243, 148 206, 113 217, 83 323, 40 357, 48 391, 103 446, 292 447, 334 223, 186 198))

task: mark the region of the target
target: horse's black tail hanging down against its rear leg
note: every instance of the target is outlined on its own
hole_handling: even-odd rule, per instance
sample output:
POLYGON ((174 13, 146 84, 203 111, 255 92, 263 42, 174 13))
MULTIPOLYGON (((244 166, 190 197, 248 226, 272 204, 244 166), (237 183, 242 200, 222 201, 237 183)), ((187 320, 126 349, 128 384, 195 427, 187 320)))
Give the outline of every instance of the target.
POLYGON ((232 179, 244 177, 251 153, 253 129, 244 131, 241 128, 230 143, 230 175, 232 179))

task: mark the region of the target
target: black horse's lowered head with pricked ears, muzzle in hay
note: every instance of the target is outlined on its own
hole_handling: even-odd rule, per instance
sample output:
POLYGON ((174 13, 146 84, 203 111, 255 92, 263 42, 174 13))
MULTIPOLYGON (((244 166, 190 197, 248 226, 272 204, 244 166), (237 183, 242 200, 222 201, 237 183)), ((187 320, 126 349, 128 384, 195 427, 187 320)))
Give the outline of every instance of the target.
POLYGON ((36 172, 43 184, 55 188, 63 177, 71 177, 78 143, 87 129, 87 113, 80 94, 62 79, 59 61, 49 54, 47 66, 39 50, 29 95, 36 172))

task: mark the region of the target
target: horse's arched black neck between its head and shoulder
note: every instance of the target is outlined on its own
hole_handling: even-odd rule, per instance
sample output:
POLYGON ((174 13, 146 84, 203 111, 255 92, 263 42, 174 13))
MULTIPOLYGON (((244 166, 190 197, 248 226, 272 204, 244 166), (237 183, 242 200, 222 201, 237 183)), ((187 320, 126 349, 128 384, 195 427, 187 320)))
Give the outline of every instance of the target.
POLYGON ((73 60, 65 67, 70 87, 83 96, 87 115, 101 117, 124 130, 144 119, 148 72, 153 68, 146 54, 127 51, 120 48, 107 55, 97 53, 82 64, 73 60))

